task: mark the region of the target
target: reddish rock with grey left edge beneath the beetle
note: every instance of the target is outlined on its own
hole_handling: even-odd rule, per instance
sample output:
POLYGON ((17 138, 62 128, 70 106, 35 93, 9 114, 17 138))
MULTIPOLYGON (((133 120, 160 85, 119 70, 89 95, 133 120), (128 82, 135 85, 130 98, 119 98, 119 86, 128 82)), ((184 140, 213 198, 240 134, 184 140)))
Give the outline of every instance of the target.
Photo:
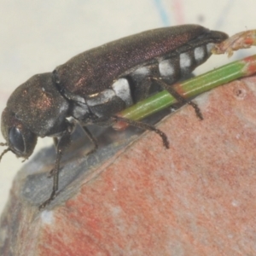
POLYGON ((1 255, 254 255, 256 78, 218 87, 154 132, 102 132, 96 154, 82 137, 61 161, 59 195, 46 148, 15 178, 0 221, 1 255))

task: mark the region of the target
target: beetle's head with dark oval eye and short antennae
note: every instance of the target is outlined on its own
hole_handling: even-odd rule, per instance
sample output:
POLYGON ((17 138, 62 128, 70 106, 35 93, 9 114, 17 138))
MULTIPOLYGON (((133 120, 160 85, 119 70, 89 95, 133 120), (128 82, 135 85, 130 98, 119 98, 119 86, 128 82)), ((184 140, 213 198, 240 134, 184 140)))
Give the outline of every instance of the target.
MULTIPOLYGON (((26 128, 26 125, 15 116, 15 113, 9 111, 9 108, 3 110, 1 124, 3 137, 6 140, 6 143, 1 145, 8 146, 3 154, 10 150, 17 157, 28 158, 36 146, 38 137, 26 128)), ((3 154, 1 154, 0 160, 3 154)))

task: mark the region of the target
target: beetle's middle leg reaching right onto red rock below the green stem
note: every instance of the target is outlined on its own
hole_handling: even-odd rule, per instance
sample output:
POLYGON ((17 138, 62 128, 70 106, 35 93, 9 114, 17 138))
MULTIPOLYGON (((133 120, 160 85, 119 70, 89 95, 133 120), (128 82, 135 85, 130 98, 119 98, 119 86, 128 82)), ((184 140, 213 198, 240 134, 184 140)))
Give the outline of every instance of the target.
POLYGON ((132 125, 132 126, 135 126, 137 128, 143 129, 143 130, 154 131, 161 137, 164 146, 166 148, 169 148, 169 141, 168 141, 168 138, 166 137, 166 133, 155 128, 154 125, 148 125, 143 122, 139 122, 139 121, 135 121, 135 120, 131 120, 131 119, 125 119, 125 118, 121 118, 119 116, 112 116, 110 119, 113 122, 121 121, 121 122, 127 123, 128 125, 132 125))

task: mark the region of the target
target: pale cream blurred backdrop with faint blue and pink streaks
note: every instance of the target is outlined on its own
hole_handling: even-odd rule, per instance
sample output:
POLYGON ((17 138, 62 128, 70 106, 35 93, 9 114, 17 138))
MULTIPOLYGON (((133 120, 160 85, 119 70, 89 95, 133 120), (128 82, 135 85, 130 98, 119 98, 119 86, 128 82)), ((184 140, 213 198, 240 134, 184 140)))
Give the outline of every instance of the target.
MULTIPOLYGON (((233 35, 256 28, 255 8, 255 0, 0 0, 0 112, 19 84, 36 73, 54 70, 86 49, 148 29, 186 23, 233 35)), ((253 51, 240 51, 230 60, 212 56, 196 73, 253 51)), ((50 144, 49 138, 39 139, 36 151, 50 144)), ((0 212, 21 165, 14 154, 4 155, 0 212)))

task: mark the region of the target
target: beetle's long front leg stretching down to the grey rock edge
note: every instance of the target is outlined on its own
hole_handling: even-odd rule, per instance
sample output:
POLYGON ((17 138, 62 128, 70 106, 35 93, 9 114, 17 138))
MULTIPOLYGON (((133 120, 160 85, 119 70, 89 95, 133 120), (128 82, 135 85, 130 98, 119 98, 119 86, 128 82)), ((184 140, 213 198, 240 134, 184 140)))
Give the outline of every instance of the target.
POLYGON ((39 206, 39 210, 44 209, 44 207, 46 207, 50 201, 53 201, 55 199, 56 192, 58 191, 61 156, 62 156, 63 152, 65 151, 65 149, 71 143, 71 133, 72 133, 73 129, 69 129, 69 128, 73 128, 73 125, 70 125, 69 127, 67 127, 67 130, 63 132, 61 137, 55 138, 55 140, 54 140, 55 144, 56 144, 56 158, 55 158, 54 169, 50 172, 51 176, 53 177, 52 192, 49 195, 49 199, 44 201, 44 203, 42 203, 39 206))

